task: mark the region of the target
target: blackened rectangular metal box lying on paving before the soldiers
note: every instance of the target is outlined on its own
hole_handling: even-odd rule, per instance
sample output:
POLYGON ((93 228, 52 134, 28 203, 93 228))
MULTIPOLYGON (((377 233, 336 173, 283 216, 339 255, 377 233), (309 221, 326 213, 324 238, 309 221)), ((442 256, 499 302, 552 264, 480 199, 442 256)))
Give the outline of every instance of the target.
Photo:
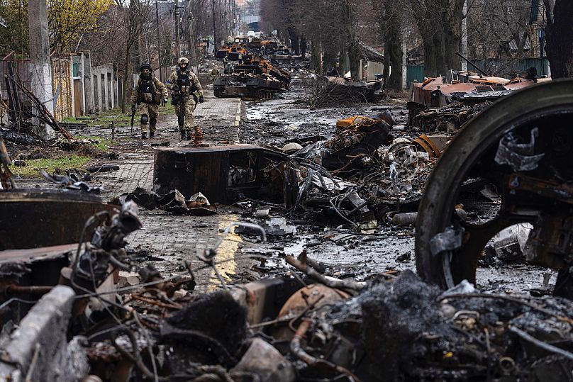
POLYGON ((270 191, 273 185, 265 169, 286 158, 255 145, 157 148, 154 191, 163 195, 177 189, 186 198, 201 192, 218 203, 234 203, 245 196, 282 202, 283 195, 270 191))

